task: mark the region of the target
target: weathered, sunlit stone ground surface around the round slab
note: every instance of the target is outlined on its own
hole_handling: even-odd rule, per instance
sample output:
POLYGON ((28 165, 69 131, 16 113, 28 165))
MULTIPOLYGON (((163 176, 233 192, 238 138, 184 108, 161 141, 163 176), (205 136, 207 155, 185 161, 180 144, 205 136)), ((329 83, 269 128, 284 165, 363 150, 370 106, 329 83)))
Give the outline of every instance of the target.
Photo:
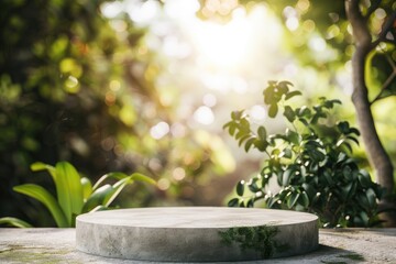
MULTIPOLYGON (((317 251, 305 255, 238 263, 396 264, 396 229, 320 230, 319 243, 317 251)), ((89 255, 75 244, 75 229, 4 228, 0 229, 0 263, 154 263, 89 255)))

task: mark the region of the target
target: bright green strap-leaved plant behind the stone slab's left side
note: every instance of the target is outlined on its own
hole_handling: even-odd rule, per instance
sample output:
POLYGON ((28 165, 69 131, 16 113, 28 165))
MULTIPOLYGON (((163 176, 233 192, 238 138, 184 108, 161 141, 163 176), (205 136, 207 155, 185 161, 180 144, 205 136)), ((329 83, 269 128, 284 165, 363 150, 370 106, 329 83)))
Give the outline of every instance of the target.
MULTIPOLYGON (((55 183, 56 198, 47 189, 36 184, 19 185, 13 190, 42 202, 50 210, 58 228, 74 227, 75 219, 80 213, 109 209, 122 189, 135 180, 155 184, 152 178, 139 173, 125 175, 113 172, 100 177, 92 186, 91 182, 86 177, 80 177, 77 169, 68 162, 58 162, 55 167, 44 163, 34 163, 31 165, 31 169, 48 172, 55 183), (107 179, 117 182, 103 184, 107 179)), ((31 227, 15 218, 2 218, 0 223, 31 227)))

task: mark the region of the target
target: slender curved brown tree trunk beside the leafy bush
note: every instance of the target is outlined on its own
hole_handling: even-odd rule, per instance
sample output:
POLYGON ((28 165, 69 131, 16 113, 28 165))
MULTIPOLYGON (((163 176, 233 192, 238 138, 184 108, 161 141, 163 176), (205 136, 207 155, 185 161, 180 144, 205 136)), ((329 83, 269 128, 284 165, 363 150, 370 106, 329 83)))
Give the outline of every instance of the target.
MULTIPOLYGON (((346 15, 352 25, 355 42, 355 52, 352 56, 352 101, 356 110, 358 124, 362 133, 369 162, 375 170, 377 183, 386 189, 386 197, 383 199, 381 207, 383 209, 394 208, 395 205, 392 204, 389 198, 394 189, 394 168, 375 129, 364 76, 367 54, 375 46, 373 46, 366 19, 362 15, 359 3, 359 0, 345 0, 346 15)), ((386 227, 396 227, 395 212, 388 211, 382 213, 381 218, 386 221, 386 227)))

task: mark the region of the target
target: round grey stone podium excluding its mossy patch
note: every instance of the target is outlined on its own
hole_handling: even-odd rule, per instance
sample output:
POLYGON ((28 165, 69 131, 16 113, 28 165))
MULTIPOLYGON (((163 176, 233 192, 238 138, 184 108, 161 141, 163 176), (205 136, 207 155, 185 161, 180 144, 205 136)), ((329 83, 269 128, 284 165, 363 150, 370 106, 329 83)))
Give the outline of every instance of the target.
POLYGON ((227 207, 143 208, 99 211, 77 218, 77 249, 90 254, 174 262, 252 261, 262 252, 227 245, 219 232, 230 228, 274 227, 286 249, 273 257, 318 246, 317 217, 310 213, 227 207))

